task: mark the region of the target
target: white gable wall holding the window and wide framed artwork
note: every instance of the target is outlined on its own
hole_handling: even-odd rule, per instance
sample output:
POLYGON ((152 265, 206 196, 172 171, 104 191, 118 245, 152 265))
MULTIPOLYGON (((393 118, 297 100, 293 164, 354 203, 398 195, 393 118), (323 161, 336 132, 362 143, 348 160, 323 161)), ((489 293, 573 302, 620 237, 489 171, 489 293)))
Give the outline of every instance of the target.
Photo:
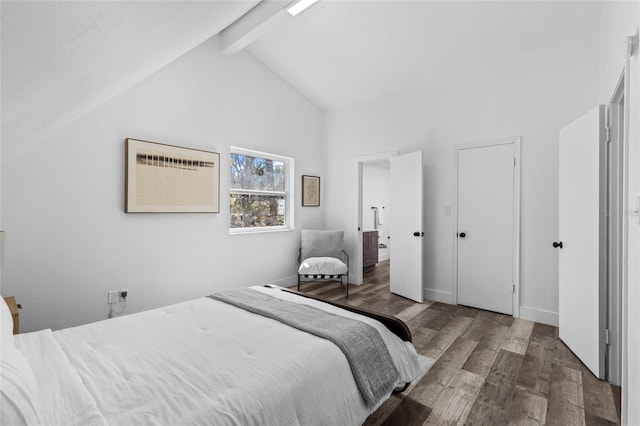
MULTIPOLYGON (((294 157, 296 182, 322 176, 322 120, 262 63, 221 54, 214 38, 37 149, 5 158, 2 293, 22 303, 23 329, 104 319, 108 290, 128 289, 131 313, 223 288, 295 282, 296 232, 229 235, 225 159, 230 145, 246 147, 294 157), (125 214, 127 137, 220 152, 221 212, 125 214)), ((296 228, 321 227, 322 208, 300 207, 297 188, 296 228)))

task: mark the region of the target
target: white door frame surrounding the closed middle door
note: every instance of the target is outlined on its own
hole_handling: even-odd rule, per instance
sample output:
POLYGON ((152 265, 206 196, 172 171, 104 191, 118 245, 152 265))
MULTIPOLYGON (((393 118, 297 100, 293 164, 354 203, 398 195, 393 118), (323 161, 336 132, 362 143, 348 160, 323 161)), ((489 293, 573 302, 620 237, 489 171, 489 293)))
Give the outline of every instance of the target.
POLYGON ((487 139, 477 142, 456 144, 454 146, 454 191, 453 191, 453 300, 458 304, 458 154, 471 148, 483 148, 497 145, 513 145, 513 317, 520 317, 520 152, 522 138, 520 136, 487 139))

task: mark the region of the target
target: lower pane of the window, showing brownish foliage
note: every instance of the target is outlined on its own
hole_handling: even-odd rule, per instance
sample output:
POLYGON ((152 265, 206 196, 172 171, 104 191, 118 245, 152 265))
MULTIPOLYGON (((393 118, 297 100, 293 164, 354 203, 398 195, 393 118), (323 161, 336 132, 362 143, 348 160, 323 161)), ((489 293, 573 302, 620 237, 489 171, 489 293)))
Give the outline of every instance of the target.
POLYGON ((284 226, 284 196, 231 194, 230 199, 231 228, 284 226))

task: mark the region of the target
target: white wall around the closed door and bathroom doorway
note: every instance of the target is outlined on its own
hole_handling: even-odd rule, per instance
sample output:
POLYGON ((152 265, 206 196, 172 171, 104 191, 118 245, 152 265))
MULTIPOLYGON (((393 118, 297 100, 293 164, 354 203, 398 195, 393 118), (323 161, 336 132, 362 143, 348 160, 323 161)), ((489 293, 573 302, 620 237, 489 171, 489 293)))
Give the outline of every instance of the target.
POLYGON ((452 71, 435 91, 413 87, 327 112, 326 226, 345 229, 354 247, 355 157, 422 150, 424 295, 451 303, 454 216, 444 207, 454 204, 454 145, 522 136, 521 315, 557 323, 558 131, 595 104, 596 82, 594 36, 452 71))

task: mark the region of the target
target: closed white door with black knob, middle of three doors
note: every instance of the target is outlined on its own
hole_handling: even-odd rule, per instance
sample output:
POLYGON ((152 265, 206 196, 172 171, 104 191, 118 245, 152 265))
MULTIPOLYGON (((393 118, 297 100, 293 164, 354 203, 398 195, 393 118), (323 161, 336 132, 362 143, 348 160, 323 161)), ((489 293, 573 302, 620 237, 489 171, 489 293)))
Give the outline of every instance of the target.
POLYGON ((513 314, 514 143, 457 150, 458 303, 513 314))

